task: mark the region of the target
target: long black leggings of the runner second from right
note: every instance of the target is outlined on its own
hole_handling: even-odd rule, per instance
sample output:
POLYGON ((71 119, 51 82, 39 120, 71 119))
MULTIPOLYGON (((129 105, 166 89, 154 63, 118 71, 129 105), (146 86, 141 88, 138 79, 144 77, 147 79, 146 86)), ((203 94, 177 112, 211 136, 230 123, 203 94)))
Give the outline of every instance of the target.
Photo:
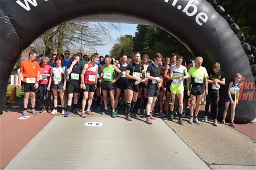
POLYGON ((212 113, 215 116, 215 119, 217 119, 218 118, 218 101, 220 100, 220 94, 218 90, 209 91, 206 97, 206 100, 207 100, 207 103, 205 105, 205 111, 204 111, 205 116, 208 116, 210 101, 212 100, 212 113))

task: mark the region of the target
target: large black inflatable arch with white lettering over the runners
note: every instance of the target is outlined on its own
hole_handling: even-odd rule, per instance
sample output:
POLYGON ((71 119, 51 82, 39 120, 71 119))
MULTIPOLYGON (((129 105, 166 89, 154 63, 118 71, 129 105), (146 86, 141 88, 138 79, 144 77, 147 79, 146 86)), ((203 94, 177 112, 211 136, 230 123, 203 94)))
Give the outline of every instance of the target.
MULTIPOLYGON (((120 15, 145 20, 165 29, 182 42, 194 56, 204 57, 208 68, 218 61, 226 82, 234 74, 243 74, 236 122, 256 117, 254 77, 245 48, 229 26, 230 16, 221 16, 224 8, 206 0, 0 0, 0 111, 5 106, 6 87, 16 60, 33 40, 47 29, 67 20, 92 15, 120 15), (209 3, 210 2, 210 3, 209 3), (228 21, 228 22, 227 22, 228 21)), ((248 46, 247 46, 248 47, 248 46)), ((247 48, 248 49, 248 48, 247 48)), ((220 95, 220 116, 228 86, 220 95)))

